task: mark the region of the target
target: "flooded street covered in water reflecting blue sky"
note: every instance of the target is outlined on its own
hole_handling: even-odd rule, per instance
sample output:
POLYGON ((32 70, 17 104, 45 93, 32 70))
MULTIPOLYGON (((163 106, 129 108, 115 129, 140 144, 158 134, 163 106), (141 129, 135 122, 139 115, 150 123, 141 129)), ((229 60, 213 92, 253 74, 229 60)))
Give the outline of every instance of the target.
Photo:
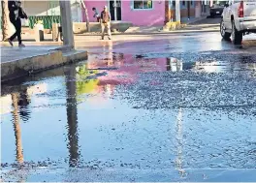
POLYGON ((177 37, 2 85, 2 179, 256 181, 255 35, 177 37))

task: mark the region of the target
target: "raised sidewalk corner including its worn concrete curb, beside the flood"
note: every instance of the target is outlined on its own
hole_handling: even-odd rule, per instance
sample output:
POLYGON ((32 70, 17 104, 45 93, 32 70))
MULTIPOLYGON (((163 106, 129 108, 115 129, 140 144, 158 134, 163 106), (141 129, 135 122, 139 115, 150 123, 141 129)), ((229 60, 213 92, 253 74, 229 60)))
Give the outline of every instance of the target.
POLYGON ((86 51, 64 50, 62 46, 1 45, 1 82, 86 59, 86 51))

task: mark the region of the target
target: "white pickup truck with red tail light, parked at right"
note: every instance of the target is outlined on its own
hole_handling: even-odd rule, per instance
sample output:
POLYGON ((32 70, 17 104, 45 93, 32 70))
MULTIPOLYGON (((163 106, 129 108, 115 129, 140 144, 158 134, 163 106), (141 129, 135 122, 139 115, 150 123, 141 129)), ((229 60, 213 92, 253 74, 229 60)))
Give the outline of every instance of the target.
POLYGON ((229 0, 220 23, 220 34, 225 40, 240 45, 242 36, 256 33, 256 0, 229 0))

